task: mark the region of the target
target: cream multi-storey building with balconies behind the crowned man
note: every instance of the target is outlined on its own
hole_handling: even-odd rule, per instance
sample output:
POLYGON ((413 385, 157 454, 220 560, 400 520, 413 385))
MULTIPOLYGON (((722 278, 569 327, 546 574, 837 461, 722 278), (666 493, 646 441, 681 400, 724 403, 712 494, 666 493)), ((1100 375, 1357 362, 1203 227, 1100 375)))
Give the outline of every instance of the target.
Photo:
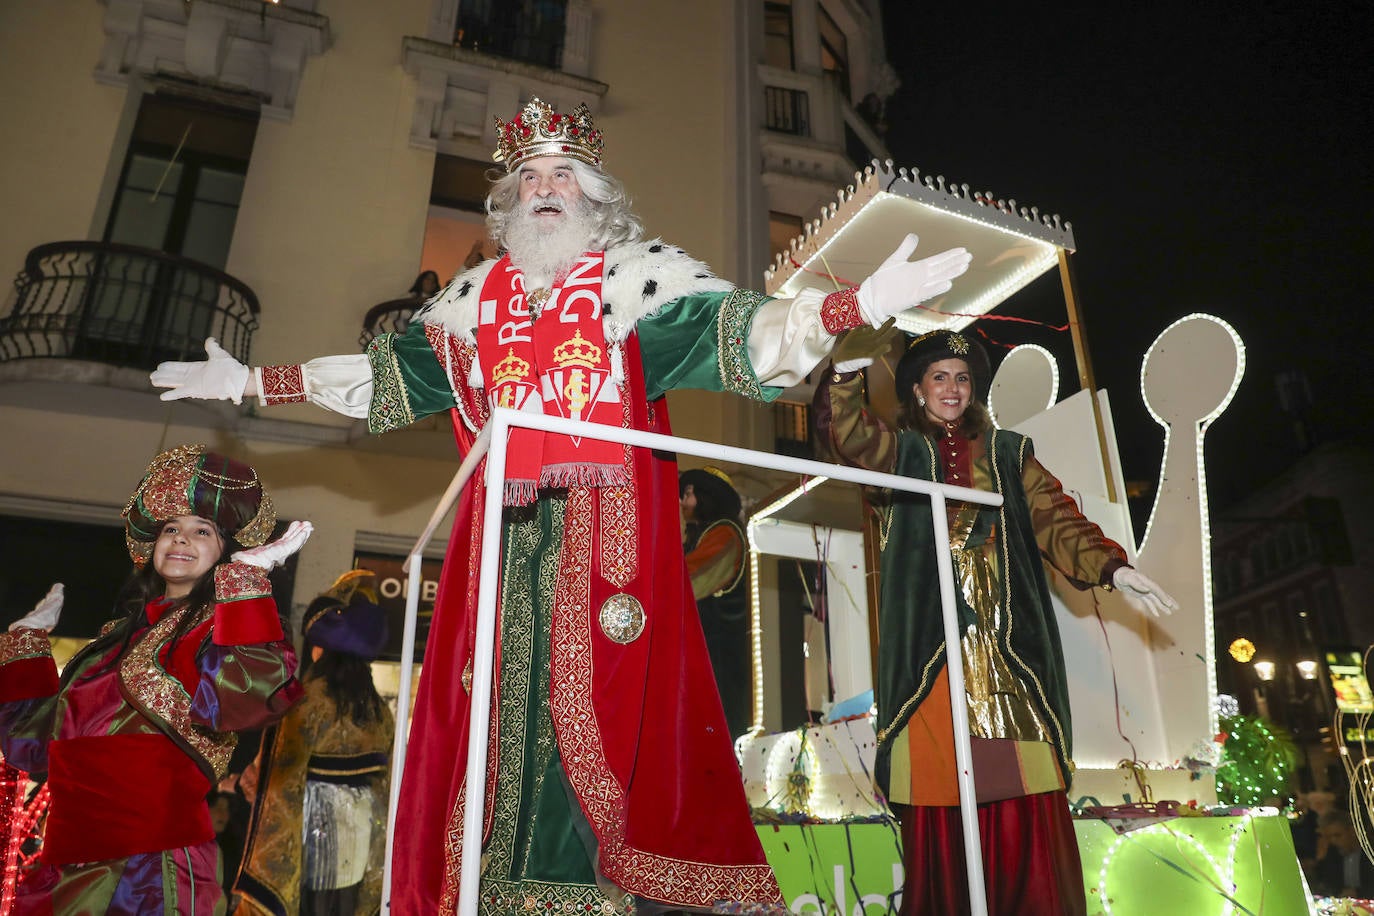
MULTIPOLYGON (((894 82, 877 0, 52 0, 0 8, 0 522, 38 545, 0 600, 16 617, 71 580, 63 630, 89 636, 126 570, 118 511, 172 444, 250 461, 315 522, 297 610, 409 549, 456 468, 445 422, 374 438, 309 407, 164 402, 147 372, 209 335, 262 365, 404 321, 422 271, 495 254, 493 117, 585 102, 649 232, 758 287, 886 155, 894 82)), ((672 409, 680 435, 775 445, 768 408, 672 409)))

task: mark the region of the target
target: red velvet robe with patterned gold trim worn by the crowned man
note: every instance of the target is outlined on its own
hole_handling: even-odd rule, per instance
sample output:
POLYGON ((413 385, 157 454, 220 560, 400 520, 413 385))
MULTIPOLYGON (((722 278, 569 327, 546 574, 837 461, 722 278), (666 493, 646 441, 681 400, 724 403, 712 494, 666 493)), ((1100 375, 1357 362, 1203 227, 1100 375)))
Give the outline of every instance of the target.
MULTIPOLYGON (((441 364, 452 360, 452 378, 466 379, 473 349, 442 332, 430 341, 441 364)), ((669 434, 664 398, 647 400, 633 334, 624 363, 625 423, 669 434)), ((458 394, 453 427, 466 453, 486 408, 480 390, 462 386, 458 394)), ((683 560, 677 464, 644 449, 629 460, 627 499, 592 489, 567 497, 550 691, 559 755, 596 835, 600 873, 618 887, 675 906, 780 904, 683 560), (628 644, 611 641, 598 623, 602 603, 620 592, 639 599, 647 618, 628 644)), ((458 901, 470 726, 463 676, 471 672, 485 497, 481 474, 473 479, 456 512, 411 728, 393 853, 394 913, 452 912, 458 901)), ((495 775, 489 762, 488 832, 495 775)))

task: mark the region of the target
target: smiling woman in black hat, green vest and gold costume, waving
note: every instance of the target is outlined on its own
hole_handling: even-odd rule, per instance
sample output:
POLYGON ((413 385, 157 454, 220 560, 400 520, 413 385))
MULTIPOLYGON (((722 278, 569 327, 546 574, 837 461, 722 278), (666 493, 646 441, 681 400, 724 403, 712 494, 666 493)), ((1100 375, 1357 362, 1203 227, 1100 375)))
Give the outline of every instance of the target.
MULTIPOLYGON (((851 332, 852 335, 855 332, 851 332)), ((859 336, 874 334, 860 331, 859 336)), ((1118 588, 1169 612, 1173 600, 1127 564, 1035 459, 1030 439, 992 424, 991 372, 973 339, 916 338, 896 371, 899 428, 863 404, 864 343, 833 354, 816 390, 816 427, 838 460, 1000 493, 1000 508, 947 504, 963 632, 988 912, 1085 912, 1065 788, 1072 729, 1059 630, 1043 562, 1079 588, 1118 588)), ((871 347, 870 347, 871 352, 871 347)), ((882 531, 877 780, 901 821, 904 913, 966 913, 952 713, 930 501, 889 493, 882 531)))

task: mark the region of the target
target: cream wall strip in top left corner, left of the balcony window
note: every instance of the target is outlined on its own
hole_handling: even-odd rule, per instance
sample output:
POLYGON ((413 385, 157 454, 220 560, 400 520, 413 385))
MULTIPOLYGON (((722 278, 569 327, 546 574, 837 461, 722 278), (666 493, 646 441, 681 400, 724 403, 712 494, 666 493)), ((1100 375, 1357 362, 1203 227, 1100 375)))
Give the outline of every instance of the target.
POLYGON ((102 14, 89 0, 0 3, 0 301, 30 249, 91 231, 125 100, 91 77, 102 14))

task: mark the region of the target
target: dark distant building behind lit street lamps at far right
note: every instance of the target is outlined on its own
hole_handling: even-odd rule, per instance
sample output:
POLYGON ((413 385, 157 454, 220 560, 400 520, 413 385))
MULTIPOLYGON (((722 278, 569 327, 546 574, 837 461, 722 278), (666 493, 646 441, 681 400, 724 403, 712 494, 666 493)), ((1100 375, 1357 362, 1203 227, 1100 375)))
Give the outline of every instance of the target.
POLYGON ((1217 688, 1241 711, 1286 726, 1304 788, 1341 787, 1327 654, 1374 644, 1374 449, 1326 442, 1241 503, 1212 530, 1217 688), (1248 640, 1231 652, 1235 640, 1248 640))

